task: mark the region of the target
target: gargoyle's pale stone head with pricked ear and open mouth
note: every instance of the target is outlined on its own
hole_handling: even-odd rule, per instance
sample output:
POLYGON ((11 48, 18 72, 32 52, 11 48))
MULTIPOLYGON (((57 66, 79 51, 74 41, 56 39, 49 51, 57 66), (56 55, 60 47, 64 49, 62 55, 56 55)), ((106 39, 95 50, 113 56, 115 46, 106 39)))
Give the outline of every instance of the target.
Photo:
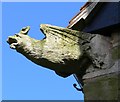
POLYGON ((30 37, 27 35, 29 30, 30 30, 30 27, 27 26, 27 27, 22 28, 19 33, 13 36, 9 36, 7 39, 7 42, 9 43, 10 48, 17 50, 25 46, 26 44, 29 45, 30 37))

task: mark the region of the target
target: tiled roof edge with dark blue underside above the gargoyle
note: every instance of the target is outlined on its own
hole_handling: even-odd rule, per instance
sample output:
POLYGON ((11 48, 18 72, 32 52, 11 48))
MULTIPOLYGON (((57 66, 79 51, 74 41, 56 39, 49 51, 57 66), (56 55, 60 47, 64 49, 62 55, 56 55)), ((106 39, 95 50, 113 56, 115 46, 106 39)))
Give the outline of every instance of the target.
POLYGON ((67 26, 70 29, 99 33, 120 27, 120 2, 87 2, 67 26))

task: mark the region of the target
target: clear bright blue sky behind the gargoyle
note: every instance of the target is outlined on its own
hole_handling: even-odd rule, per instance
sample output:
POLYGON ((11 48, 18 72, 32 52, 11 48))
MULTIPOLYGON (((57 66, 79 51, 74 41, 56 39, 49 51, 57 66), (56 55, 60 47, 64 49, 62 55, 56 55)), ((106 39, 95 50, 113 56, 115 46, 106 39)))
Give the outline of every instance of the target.
MULTIPOLYGON (((8 36, 30 26, 29 35, 44 38, 40 24, 66 27, 84 2, 6 2, 2 3, 2 98, 4 100, 83 100, 71 75, 62 78, 53 71, 38 66, 6 43, 8 36)), ((57 67, 57 66, 56 66, 57 67)))

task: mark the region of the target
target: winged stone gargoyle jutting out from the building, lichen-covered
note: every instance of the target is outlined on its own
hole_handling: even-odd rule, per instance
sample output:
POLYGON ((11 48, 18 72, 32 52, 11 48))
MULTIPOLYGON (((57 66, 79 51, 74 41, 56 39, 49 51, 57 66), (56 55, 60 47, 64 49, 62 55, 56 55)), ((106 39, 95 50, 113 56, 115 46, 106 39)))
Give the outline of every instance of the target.
POLYGON ((62 77, 77 74, 90 63, 96 67, 103 65, 91 53, 91 40, 96 34, 41 24, 40 30, 45 38, 36 40, 28 36, 29 30, 30 27, 27 26, 19 33, 9 36, 7 42, 10 48, 16 49, 32 62, 54 70, 62 77))

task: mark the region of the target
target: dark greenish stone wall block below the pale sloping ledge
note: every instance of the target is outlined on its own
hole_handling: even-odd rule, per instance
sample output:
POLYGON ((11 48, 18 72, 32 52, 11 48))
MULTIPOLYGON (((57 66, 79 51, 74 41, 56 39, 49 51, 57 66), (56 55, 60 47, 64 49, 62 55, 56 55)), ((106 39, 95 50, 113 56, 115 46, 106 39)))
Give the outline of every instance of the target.
POLYGON ((118 102, 120 73, 111 73, 84 81, 85 102, 90 100, 118 102))

